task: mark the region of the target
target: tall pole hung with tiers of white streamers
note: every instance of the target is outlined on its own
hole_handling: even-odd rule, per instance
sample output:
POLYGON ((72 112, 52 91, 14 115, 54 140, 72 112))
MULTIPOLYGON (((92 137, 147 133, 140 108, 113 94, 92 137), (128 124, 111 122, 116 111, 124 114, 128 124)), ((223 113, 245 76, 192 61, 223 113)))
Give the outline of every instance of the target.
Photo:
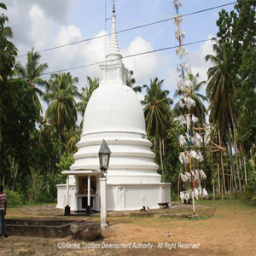
MULTIPOLYGON (((198 195, 201 195, 201 179, 206 178, 205 173, 202 170, 192 170, 192 158, 202 161, 203 157, 200 150, 191 150, 191 145, 194 144, 195 147, 200 147, 201 145, 201 136, 193 132, 193 129, 190 130, 190 127, 197 122, 197 117, 190 112, 190 109, 195 107, 195 101, 190 97, 189 91, 193 87, 193 82, 189 79, 190 66, 186 61, 183 61, 184 56, 188 54, 187 48, 182 44, 183 38, 186 34, 181 29, 181 23, 183 21, 183 15, 179 14, 179 9, 182 7, 181 0, 173 0, 173 5, 176 10, 176 15, 174 16, 174 23, 177 26, 177 31, 175 32, 175 38, 178 41, 178 46, 175 50, 176 55, 179 57, 181 62, 177 64, 177 73, 178 76, 182 79, 177 81, 178 90, 183 90, 183 98, 178 100, 178 106, 185 109, 185 114, 179 116, 178 121, 183 127, 186 127, 186 132, 184 135, 179 136, 179 143, 181 147, 188 145, 188 150, 181 152, 179 160, 184 165, 189 165, 189 172, 181 173, 181 178, 185 183, 191 183, 191 192, 192 192, 192 201, 193 201, 193 212, 195 215, 195 197, 198 198, 198 195), (198 181, 198 188, 194 188, 193 182, 198 181), (199 191, 198 191, 199 190, 199 191)), ((181 192, 181 199, 186 199, 189 201, 189 190, 181 192)))

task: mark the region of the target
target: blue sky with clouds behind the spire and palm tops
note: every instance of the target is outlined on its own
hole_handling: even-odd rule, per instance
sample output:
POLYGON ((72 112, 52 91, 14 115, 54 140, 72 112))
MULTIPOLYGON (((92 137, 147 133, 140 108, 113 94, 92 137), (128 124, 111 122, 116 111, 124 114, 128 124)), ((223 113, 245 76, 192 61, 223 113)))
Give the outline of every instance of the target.
MULTIPOLYGON (((69 44, 86 38, 105 34, 105 0, 5 0, 9 17, 9 26, 13 28, 13 42, 24 55, 29 49, 48 49, 61 44, 69 44)), ((230 0, 183 0, 180 14, 187 15, 198 10, 212 8, 230 0)), ((113 1, 106 0, 107 18, 112 15, 113 1)), ((172 18, 175 15, 172 0, 116 0, 117 30, 141 26, 158 20, 172 18)), ((224 9, 230 11, 233 5, 224 9)), ((218 11, 213 9, 205 13, 183 18, 182 29, 186 32, 183 43, 204 40, 216 36, 218 11)), ((174 33, 177 26, 173 20, 118 34, 119 49, 122 55, 132 55, 143 51, 172 47, 177 45, 174 33)), ((106 32, 111 32, 111 20, 106 23, 106 32)), ((106 38, 107 51, 109 37, 106 38)), ((187 47, 186 61, 192 67, 192 73, 200 73, 200 79, 207 79, 210 63, 204 61, 212 54, 211 42, 193 44, 187 47)), ((42 61, 49 65, 49 72, 62 68, 88 65, 105 58, 105 39, 95 39, 61 49, 42 52, 42 61)), ((17 61, 26 63, 26 57, 17 61)), ((134 71, 138 85, 148 84, 156 76, 165 79, 164 89, 170 90, 173 98, 177 83, 176 65, 179 62, 174 49, 148 55, 124 59, 125 67, 134 71)), ((99 77, 98 65, 70 71, 79 77, 79 89, 87 84, 86 76, 99 77)), ((49 76, 45 76, 49 79, 49 76)), ((46 105, 44 105, 46 108, 46 105)))

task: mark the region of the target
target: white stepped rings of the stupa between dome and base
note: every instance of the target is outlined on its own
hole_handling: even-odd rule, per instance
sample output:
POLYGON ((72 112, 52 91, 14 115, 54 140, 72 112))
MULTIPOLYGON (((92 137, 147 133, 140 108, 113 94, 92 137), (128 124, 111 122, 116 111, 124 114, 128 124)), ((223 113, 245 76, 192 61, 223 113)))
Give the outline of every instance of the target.
POLYGON ((156 172, 158 166, 154 163, 154 153, 150 149, 152 144, 146 138, 123 132, 99 133, 98 137, 94 136, 81 138, 71 170, 98 170, 98 150, 104 138, 112 152, 108 183, 160 183, 160 175, 156 172))

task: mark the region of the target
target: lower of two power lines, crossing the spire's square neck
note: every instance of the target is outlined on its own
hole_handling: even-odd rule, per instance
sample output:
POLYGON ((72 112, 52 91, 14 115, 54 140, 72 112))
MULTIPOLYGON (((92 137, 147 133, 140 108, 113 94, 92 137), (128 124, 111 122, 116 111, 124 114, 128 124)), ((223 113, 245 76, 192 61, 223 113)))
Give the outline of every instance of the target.
MULTIPOLYGON (((211 40, 212 39, 198 40, 198 41, 194 41, 194 42, 191 42, 191 43, 182 44, 181 46, 188 46, 188 45, 191 45, 191 44, 199 44, 199 43, 204 43, 204 42, 211 41, 211 40)), ((177 46, 171 46, 171 47, 160 48, 160 49, 153 49, 153 50, 144 51, 144 52, 134 54, 134 55, 123 56, 122 58, 127 59, 127 58, 131 58, 131 57, 139 56, 139 55, 146 55, 146 54, 151 54, 151 53, 154 53, 154 52, 159 52, 159 51, 163 51, 163 50, 167 50, 167 49, 175 49, 175 48, 177 48, 177 46)), ((114 59, 114 60, 111 60, 111 61, 120 60, 122 58, 117 58, 117 59, 114 59)), ((69 71, 69 70, 79 69, 79 68, 83 68, 83 67, 91 67, 91 66, 100 65, 100 64, 103 64, 103 63, 106 63, 106 62, 108 62, 108 61, 106 61, 106 60, 105 61, 98 61, 98 62, 95 62, 95 63, 90 63, 90 64, 79 66, 79 67, 64 68, 64 69, 56 70, 56 71, 49 72, 49 73, 43 73, 43 74, 41 74, 41 76, 49 75, 49 74, 52 74, 52 73, 61 73, 61 72, 65 72, 67 70, 69 71)))

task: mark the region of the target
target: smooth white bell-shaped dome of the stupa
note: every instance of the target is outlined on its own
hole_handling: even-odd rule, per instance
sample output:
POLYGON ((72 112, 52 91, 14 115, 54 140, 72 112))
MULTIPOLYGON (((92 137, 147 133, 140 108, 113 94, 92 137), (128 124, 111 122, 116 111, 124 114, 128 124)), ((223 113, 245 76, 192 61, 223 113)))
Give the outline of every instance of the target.
POLYGON ((83 135, 96 132, 136 132, 146 135, 142 105, 130 87, 102 84, 84 113, 83 135))

